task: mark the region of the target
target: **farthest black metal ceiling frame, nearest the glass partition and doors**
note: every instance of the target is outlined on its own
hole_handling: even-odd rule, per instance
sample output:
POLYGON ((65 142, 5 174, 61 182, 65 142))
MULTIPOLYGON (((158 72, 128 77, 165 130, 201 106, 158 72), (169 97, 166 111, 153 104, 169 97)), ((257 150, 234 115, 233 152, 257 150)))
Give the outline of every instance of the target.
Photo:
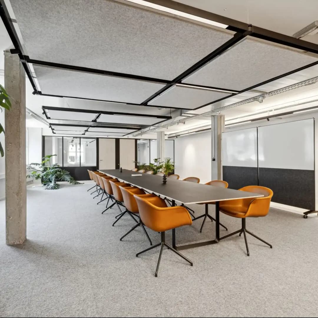
MULTIPOLYGON (((88 131, 89 128, 110 128, 110 129, 128 129, 128 130, 132 130, 131 132, 129 133, 123 133, 124 135, 122 135, 121 137, 123 136, 126 136, 126 135, 129 135, 131 133, 135 133, 136 131, 142 129, 142 128, 146 128, 148 127, 147 125, 132 125, 132 124, 118 124, 118 123, 108 123, 107 125, 92 125, 92 124, 87 124, 87 125, 83 125, 83 124, 54 124, 54 123, 50 123, 49 124, 49 127, 51 128, 52 130, 52 133, 53 134, 56 134, 54 132, 54 128, 52 126, 60 126, 60 127, 83 127, 83 128, 86 128, 84 130, 84 133, 83 134, 80 134, 81 136, 82 135, 85 135, 85 133, 88 131), (117 126, 116 126, 117 125, 117 126), (118 126, 120 125, 120 126, 118 126), (126 126, 123 126, 123 125, 126 125, 126 126), (127 127, 128 125, 128 127, 127 127)), ((63 130, 63 129, 60 129, 60 130, 63 130)), ((91 131, 93 133, 95 133, 95 131, 91 131)), ((98 131, 96 131, 96 135, 98 135, 98 131)), ((104 132, 104 131, 100 131, 100 133, 109 133, 109 134, 113 134, 113 133, 118 133, 118 134, 121 134, 120 132, 104 132)))

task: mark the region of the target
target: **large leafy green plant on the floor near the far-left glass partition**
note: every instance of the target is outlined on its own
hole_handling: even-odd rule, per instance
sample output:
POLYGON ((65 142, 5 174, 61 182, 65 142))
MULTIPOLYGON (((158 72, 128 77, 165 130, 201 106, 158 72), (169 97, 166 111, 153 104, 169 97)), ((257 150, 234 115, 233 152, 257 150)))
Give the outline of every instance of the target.
POLYGON ((57 155, 48 155, 43 158, 41 163, 31 163, 26 168, 32 170, 27 178, 34 176, 35 180, 41 180, 46 190, 59 189, 58 181, 67 181, 70 184, 81 184, 76 181, 67 170, 61 169, 59 164, 51 165, 51 158, 57 155))

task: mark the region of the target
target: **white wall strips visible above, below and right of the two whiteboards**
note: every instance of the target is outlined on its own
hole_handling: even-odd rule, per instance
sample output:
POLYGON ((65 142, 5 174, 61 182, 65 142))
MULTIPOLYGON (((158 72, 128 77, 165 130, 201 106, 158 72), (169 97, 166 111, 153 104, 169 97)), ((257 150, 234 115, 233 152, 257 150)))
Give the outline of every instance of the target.
MULTIPOLYGON (((237 125, 237 126, 233 126, 231 128, 228 127, 228 128, 225 128, 225 132, 314 118, 315 119, 315 140, 318 140, 318 122, 317 122, 318 112, 309 112, 309 113, 305 112, 305 113, 300 113, 298 115, 289 115, 289 116, 284 116, 284 117, 280 117, 280 118, 281 119, 272 118, 272 119, 270 119, 270 121, 267 121, 267 120, 254 121, 252 123, 247 123, 245 125, 237 125)), ((316 184, 316 187, 315 187, 315 210, 318 210, 318 186, 317 186, 317 184, 318 184, 318 155, 317 154, 318 154, 318 143, 315 142, 315 184, 316 184)), ((292 211, 292 212, 302 213, 302 212, 306 211, 304 209, 291 207, 288 205, 274 203, 274 202, 271 203, 271 206, 278 208, 278 209, 283 209, 283 210, 292 211)))

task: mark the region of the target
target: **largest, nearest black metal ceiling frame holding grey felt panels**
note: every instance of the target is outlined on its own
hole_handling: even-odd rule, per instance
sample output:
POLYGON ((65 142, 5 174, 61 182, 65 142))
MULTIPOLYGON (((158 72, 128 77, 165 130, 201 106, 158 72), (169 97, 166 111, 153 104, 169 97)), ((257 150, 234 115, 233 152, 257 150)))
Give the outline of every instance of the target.
MULTIPOLYGON (((65 98, 77 98, 77 99, 83 99, 83 100, 95 100, 95 99, 89 99, 89 98, 81 98, 81 97, 76 97, 76 96, 61 96, 61 95, 51 95, 51 94, 43 94, 41 91, 39 91, 34 83, 33 80, 33 76, 29 67, 28 63, 33 63, 33 64, 37 64, 37 65, 42 65, 42 66, 50 66, 50 67, 56 67, 56 68, 63 68, 63 69, 70 69, 70 70, 74 70, 74 71, 80 71, 80 72, 89 72, 89 73, 96 73, 96 74, 102 74, 102 75, 108 75, 108 76, 119 76, 121 78, 127 78, 127 79, 137 79, 137 80, 143 80, 143 81, 151 81, 151 82, 158 82, 158 83, 165 83, 166 85, 161 88, 160 90, 158 90, 155 94, 151 95, 148 99, 144 100, 142 103, 140 104, 136 104, 136 103, 127 103, 127 102, 120 102, 120 101, 111 101, 111 100, 97 100, 97 101, 107 101, 107 102, 115 102, 115 103, 122 103, 122 104, 130 104, 130 105, 139 105, 139 106, 148 106, 148 107, 160 107, 160 108, 172 108, 172 109, 180 109, 180 108, 176 108, 176 107, 165 107, 165 106, 160 106, 160 105, 149 105, 148 103, 155 99, 156 97, 158 97, 159 95, 161 95, 162 93, 164 93, 167 89, 171 88, 172 86, 176 85, 176 84, 184 84, 187 85, 185 83, 182 83, 182 80, 185 79, 187 76, 189 76, 190 74, 196 72, 199 68, 201 68, 202 66, 206 65, 208 62, 210 62, 211 60, 215 59, 217 56, 219 56, 220 54, 222 54, 223 52, 225 52, 226 50, 230 49, 233 45, 235 45, 236 43, 238 43, 239 41, 241 41, 242 39, 244 39, 247 36, 251 36, 251 37, 255 37, 255 38, 259 38, 259 39, 263 39, 269 42, 273 42, 276 44, 280 44, 280 45, 285 45, 288 47, 292 47, 292 48, 296 48, 299 50, 303 50, 303 51, 307 51, 307 52, 312 52, 315 54, 318 54, 318 45, 311 43, 311 42, 307 42, 307 41, 303 41, 297 38, 293 38, 284 34, 280 34, 277 32, 273 32, 273 31, 269 31, 266 29, 262 29, 256 26, 253 26, 251 24, 246 24, 244 22, 240 22, 234 19, 230 19, 227 17, 223 17, 220 16, 218 14, 215 13, 211 13, 209 11, 205 11, 205 10, 201 10, 201 9, 197 9, 188 5, 185 5, 183 3, 178 3, 172 0, 147 0, 150 3, 155 3, 170 9, 174 9, 174 10, 178 10, 178 11, 182 11, 185 13, 189 13, 192 14, 194 16, 197 17, 202 17, 208 20, 212 20, 218 23, 222 23, 225 25, 228 25, 228 27, 226 27, 227 30, 230 31, 234 31, 236 32, 233 36, 233 38, 231 38, 230 40, 228 40, 227 42, 225 42, 223 45, 221 45, 219 48, 217 48, 215 51, 211 52, 209 55, 207 55, 206 57, 204 57, 203 59, 201 59, 200 61, 198 61, 195 65, 191 66, 189 69, 187 69, 186 71, 184 71, 182 74, 180 74, 178 77, 176 77, 175 79, 173 79, 172 81, 169 80, 164 80, 164 79, 155 79, 155 78, 149 78, 149 77, 144 77, 144 76, 138 76, 138 75, 133 75, 133 74, 126 74, 126 73, 116 73, 116 72, 111 72, 111 71, 104 71, 104 70, 98 70, 98 69, 92 69, 92 68, 86 68, 86 67, 80 67, 80 66, 72 66, 72 65, 64 65, 64 64, 59 64, 59 63, 52 63, 52 62, 46 62, 46 61, 39 61, 39 60, 32 60, 30 59, 27 55, 24 54, 23 52, 23 47, 19 41, 19 38, 17 37, 17 32, 15 31, 14 25, 12 23, 12 20, 10 19, 10 16, 8 14, 8 10, 5 7, 4 1, 0 0, 1 6, 0 6, 0 14, 1 14, 1 18, 3 20, 3 23, 9 33, 9 36, 11 38, 11 41, 15 47, 15 50, 11 51, 12 53, 17 53, 19 55, 20 60, 23 63, 24 69, 28 75, 28 78, 31 82, 31 85, 34 89, 34 94, 38 94, 38 95, 43 95, 43 96, 52 96, 52 97, 65 97, 65 98)), ((133 5, 132 3, 129 3, 128 5, 133 5)), ((246 92, 248 90, 251 90, 255 87, 258 86, 262 86, 264 84, 267 84, 269 82, 272 82, 276 79, 280 79, 282 77, 288 76, 290 74, 299 72, 303 69, 306 69, 308 67, 317 65, 317 62, 308 64, 306 66, 297 68, 295 70, 289 71, 287 73, 281 74, 279 76, 276 76, 274 78, 268 79, 266 81, 263 81, 261 83, 257 83, 253 86, 247 87, 241 91, 232 93, 228 96, 225 96, 223 98, 220 98, 218 100, 214 100, 211 101, 209 103, 206 103, 202 106, 196 107, 196 108, 183 108, 183 109, 187 109, 187 110, 196 110, 199 109, 201 107, 205 107, 207 105, 211 105, 214 103, 217 103, 218 101, 230 98, 232 96, 235 96, 239 93, 243 93, 246 92)), ((195 85, 195 84, 193 84, 195 85)), ((195 85, 195 86, 200 86, 200 85, 195 85)), ((209 86, 201 86, 203 89, 204 88, 212 88, 215 89, 215 87, 209 87, 209 86)), ((225 88, 218 88, 218 90, 220 92, 222 91, 233 91, 231 89, 225 89, 225 88)))

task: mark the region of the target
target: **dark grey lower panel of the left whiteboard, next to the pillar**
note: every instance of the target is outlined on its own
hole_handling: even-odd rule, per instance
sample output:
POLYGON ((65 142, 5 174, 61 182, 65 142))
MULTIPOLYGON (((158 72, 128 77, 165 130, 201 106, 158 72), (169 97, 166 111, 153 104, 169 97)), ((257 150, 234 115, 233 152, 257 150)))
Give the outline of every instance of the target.
POLYGON ((223 180, 229 184, 230 189, 238 190, 247 185, 258 185, 257 168, 223 166, 223 180))

